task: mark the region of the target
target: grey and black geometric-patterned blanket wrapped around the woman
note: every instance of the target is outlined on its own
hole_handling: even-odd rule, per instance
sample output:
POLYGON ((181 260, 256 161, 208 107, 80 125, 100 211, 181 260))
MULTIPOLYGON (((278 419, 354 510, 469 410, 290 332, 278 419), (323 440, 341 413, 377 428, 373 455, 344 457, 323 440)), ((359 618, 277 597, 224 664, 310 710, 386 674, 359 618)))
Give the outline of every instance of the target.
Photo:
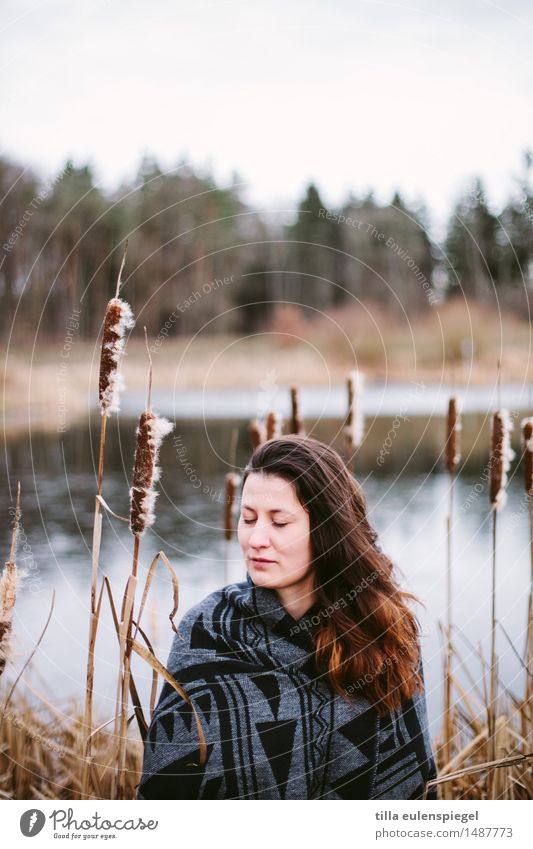
MULTIPOLYGON (((435 777, 425 697, 379 717, 317 671, 314 605, 298 621, 250 576, 183 618, 145 743, 139 799, 420 799, 435 777)), ((433 792, 427 798, 436 798, 433 792)))

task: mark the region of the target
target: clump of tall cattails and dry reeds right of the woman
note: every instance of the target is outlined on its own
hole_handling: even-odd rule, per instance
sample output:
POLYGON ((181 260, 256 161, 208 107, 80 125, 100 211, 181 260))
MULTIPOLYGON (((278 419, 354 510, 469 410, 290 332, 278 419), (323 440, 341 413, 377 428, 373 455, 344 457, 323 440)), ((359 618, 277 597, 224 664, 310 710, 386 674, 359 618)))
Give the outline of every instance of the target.
MULTIPOLYGON (((498 389, 500 382, 498 363, 498 389)), ((499 395, 499 391, 498 391, 499 395)), ((531 420, 523 422, 523 453, 525 484, 528 498, 533 488, 533 464, 528 452, 533 434, 531 420)), ((497 618, 497 516, 507 500, 508 471, 514 452, 511 448, 513 428, 509 412, 497 409, 492 416, 489 450, 489 503, 492 520, 492 573, 490 659, 486 661, 479 651, 481 680, 474 680, 471 671, 458 655, 452 616, 452 531, 453 491, 458 464, 461 459, 459 434, 461 417, 455 397, 448 406, 445 465, 449 475, 449 513, 447 517, 447 569, 446 569, 446 626, 441 630, 445 638, 444 706, 441 734, 436 741, 438 778, 442 799, 531 799, 533 798, 533 714, 531 710, 530 672, 528 670, 529 628, 525 656, 521 658, 525 677, 524 698, 519 699, 505 690, 498 674, 496 653, 497 618), (459 683, 455 669, 467 672, 471 686, 468 691, 459 683), (488 680, 487 680, 488 679, 488 680)), ((532 525, 530 524, 530 534, 532 525)), ((533 558, 533 536, 531 536, 533 558)), ((532 559, 533 563, 533 559, 532 559)), ((531 571, 533 578, 533 567, 531 571)), ((531 584, 528 600, 531 611, 531 584)))

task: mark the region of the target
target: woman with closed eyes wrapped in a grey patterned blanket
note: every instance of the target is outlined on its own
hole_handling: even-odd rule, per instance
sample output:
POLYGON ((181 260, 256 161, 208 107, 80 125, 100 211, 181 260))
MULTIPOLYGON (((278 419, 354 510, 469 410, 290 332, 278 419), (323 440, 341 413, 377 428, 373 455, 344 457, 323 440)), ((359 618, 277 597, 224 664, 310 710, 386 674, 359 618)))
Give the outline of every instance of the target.
POLYGON ((247 579, 180 623, 168 669, 190 701, 165 683, 139 798, 435 798, 414 597, 341 457, 257 448, 238 535, 247 579))

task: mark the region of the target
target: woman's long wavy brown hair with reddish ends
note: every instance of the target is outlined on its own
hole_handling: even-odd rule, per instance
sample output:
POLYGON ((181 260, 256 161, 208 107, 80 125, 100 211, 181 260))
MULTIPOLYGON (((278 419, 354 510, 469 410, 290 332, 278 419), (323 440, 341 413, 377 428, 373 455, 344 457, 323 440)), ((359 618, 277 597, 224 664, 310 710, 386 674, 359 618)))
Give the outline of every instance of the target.
POLYGON ((377 543, 366 501, 340 455, 309 437, 264 442, 244 469, 290 481, 309 514, 315 591, 316 663, 346 699, 395 710, 422 689, 418 622, 393 565, 377 543))

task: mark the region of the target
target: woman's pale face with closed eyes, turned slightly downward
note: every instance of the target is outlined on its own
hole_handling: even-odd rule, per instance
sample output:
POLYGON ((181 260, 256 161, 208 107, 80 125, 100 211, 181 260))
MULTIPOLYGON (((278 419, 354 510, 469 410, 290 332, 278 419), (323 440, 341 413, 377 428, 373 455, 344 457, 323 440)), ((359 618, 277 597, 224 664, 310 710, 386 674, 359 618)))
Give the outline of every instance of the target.
POLYGON ((283 589, 313 581, 309 514, 292 483, 251 472, 242 492, 238 525, 246 567, 257 586, 283 589))

